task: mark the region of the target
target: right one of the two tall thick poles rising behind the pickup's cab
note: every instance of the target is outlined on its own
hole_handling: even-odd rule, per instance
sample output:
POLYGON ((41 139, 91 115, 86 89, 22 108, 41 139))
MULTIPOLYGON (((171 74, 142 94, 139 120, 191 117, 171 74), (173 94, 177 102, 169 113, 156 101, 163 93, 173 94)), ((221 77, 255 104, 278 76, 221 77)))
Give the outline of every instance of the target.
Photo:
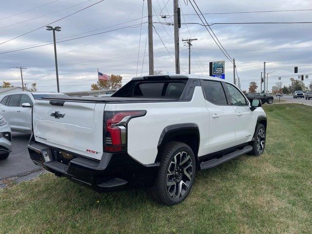
POLYGON ((180 74, 180 51, 179 51, 179 28, 181 27, 181 16, 178 0, 174 0, 174 27, 175 27, 175 58, 176 74, 180 74))

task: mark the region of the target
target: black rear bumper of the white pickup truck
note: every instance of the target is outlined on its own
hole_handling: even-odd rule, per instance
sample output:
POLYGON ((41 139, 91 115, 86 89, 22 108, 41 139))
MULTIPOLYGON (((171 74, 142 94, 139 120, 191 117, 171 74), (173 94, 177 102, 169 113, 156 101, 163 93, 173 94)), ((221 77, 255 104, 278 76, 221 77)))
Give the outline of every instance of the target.
POLYGON ((57 154, 61 149, 38 143, 33 137, 28 151, 35 164, 98 192, 149 187, 158 171, 158 164, 142 165, 127 153, 104 153, 100 161, 73 154, 73 159, 63 163, 57 154))

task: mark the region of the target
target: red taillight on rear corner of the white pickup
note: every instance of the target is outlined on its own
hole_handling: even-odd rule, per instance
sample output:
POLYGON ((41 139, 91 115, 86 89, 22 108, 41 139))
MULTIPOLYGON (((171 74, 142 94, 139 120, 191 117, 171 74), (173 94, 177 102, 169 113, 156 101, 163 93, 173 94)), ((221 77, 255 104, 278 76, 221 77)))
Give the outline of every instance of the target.
POLYGON ((146 111, 104 111, 104 151, 127 150, 127 124, 131 118, 144 116, 146 111))

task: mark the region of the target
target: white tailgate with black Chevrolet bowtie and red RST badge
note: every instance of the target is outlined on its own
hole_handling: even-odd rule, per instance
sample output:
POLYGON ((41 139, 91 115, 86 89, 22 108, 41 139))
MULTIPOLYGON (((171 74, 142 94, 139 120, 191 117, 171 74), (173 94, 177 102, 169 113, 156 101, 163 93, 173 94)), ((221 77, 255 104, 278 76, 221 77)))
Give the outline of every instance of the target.
POLYGON ((104 103, 38 100, 33 108, 36 141, 79 155, 100 159, 103 153, 104 103))

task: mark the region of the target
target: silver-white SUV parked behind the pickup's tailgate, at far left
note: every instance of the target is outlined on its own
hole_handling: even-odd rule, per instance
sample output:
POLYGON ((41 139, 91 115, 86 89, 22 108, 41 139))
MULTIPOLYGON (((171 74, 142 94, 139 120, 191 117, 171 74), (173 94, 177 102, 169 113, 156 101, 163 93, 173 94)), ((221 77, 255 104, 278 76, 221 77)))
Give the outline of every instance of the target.
POLYGON ((16 92, 0 98, 0 113, 8 121, 12 131, 31 133, 31 108, 38 98, 65 98, 65 94, 16 92))

